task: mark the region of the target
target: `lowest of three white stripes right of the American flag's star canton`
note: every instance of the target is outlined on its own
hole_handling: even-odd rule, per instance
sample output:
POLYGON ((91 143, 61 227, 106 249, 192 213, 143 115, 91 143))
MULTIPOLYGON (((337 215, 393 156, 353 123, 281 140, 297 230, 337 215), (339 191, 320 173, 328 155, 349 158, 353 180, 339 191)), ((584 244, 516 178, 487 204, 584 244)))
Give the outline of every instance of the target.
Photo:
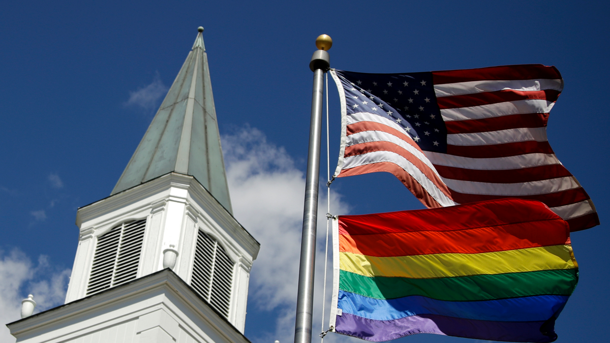
POLYGON ((518 128, 472 134, 448 134, 451 145, 492 145, 512 142, 547 141, 547 128, 518 128))

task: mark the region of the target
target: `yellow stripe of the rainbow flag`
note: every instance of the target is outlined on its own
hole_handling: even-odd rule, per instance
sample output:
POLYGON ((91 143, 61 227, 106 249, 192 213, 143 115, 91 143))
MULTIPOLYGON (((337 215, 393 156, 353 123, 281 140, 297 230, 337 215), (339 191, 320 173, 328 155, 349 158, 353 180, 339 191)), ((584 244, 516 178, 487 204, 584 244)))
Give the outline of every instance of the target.
POLYGON ((570 258, 570 247, 567 245, 480 254, 398 257, 375 257, 342 252, 339 253, 339 265, 341 270, 364 276, 403 278, 445 278, 575 268, 570 258))

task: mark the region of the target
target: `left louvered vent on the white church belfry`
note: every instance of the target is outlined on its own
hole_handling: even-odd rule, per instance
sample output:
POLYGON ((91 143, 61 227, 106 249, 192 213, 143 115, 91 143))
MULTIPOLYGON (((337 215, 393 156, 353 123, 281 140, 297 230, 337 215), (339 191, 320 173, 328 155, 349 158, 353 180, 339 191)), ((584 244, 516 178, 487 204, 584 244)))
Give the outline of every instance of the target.
POLYGON ((123 223, 98 237, 87 295, 135 279, 146 219, 123 223))

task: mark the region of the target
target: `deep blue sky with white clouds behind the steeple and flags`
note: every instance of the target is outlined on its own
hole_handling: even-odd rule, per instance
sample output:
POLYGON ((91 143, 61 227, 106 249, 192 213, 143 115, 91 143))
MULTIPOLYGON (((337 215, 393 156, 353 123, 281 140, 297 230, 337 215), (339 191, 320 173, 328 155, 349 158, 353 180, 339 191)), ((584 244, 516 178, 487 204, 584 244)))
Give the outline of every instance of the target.
MULTIPOLYGON (((315 37, 323 33, 334 40, 331 67, 343 70, 398 73, 519 63, 559 69, 565 87, 551 111, 549 141, 594 201, 601 225, 572 236, 580 283, 556 331, 558 342, 603 338, 610 305, 603 253, 610 238, 608 13, 602 1, 4 2, 0 319, 17 319, 15 301, 29 292, 44 298, 41 309, 62 303, 76 252, 76 209, 109 195, 184 62, 196 28, 204 26, 235 215, 267 251, 253 267, 246 320, 251 341, 292 341, 297 261, 281 246, 299 245, 298 187, 312 87, 308 64, 315 37)), ((333 84, 329 89, 334 168, 339 101, 333 84)), ((339 179, 332 190, 334 214, 422 208, 389 174, 339 179)), ((424 334, 402 340, 464 341, 424 334)))

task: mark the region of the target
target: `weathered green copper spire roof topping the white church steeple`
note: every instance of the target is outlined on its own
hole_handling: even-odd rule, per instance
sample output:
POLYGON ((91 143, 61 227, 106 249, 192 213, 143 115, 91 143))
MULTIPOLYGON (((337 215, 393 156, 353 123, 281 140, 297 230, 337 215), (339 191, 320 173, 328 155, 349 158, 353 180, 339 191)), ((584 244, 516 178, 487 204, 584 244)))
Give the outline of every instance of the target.
POLYGON ((232 212, 203 44, 203 28, 110 195, 176 171, 197 181, 232 212))

